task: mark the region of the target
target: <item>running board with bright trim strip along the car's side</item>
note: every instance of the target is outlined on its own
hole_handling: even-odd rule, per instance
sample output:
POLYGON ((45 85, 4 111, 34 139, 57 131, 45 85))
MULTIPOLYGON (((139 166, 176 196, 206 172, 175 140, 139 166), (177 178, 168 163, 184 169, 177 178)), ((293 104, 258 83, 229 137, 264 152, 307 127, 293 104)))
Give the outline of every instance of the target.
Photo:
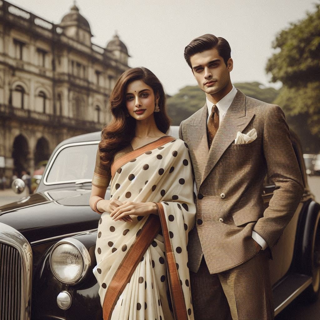
POLYGON ((279 314, 293 299, 308 288, 312 277, 299 273, 290 273, 273 287, 275 299, 275 316, 279 314))

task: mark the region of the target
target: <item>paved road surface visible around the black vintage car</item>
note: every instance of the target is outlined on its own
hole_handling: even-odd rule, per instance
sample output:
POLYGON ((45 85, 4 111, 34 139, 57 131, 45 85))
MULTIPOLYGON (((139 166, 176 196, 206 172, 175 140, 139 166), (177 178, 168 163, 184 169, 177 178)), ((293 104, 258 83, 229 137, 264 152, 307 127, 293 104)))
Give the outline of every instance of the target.
MULTIPOLYGON (((308 183, 316 197, 316 201, 320 202, 320 176, 309 177, 308 183)), ((11 189, 1 190, 0 206, 17 201, 22 196, 28 196, 26 190, 21 195, 16 195, 11 189)), ((306 304, 305 301, 298 297, 276 316, 275 320, 320 320, 320 300, 314 304, 306 304)))

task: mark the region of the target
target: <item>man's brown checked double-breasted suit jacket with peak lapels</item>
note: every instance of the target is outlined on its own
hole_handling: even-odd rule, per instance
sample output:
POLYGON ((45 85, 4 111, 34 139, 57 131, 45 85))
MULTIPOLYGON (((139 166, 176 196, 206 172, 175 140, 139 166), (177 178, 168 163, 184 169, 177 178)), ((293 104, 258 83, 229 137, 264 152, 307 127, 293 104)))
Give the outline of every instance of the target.
POLYGON ((196 224, 189 233, 189 268, 202 256, 211 274, 234 268, 256 254, 252 230, 276 244, 303 194, 301 172, 280 107, 237 90, 212 141, 207 140, 207 105, 180 124, 196 180, 196 224), (235 144, 238 131, 257 131, 249 144, 235 144), (264 209, 263 181, 276 188, 264 209))

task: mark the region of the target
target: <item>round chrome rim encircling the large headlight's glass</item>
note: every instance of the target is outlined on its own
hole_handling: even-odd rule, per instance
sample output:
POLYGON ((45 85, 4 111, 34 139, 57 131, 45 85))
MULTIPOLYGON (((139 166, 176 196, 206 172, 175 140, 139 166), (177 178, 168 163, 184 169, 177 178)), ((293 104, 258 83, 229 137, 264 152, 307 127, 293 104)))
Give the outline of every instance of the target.
POLYGON ((59 280, 60 282, 64 283, 64 284, 70 284, 70 285, 75 285, 75 284, 79 284, 84 278, 85 276, 87 275, 88 273, 88 269, 89 267, 91 266, 91 257, 90 257, 90 254, 87 250, 87 248, 84 246, 84 244, 75 239, 75 238, 65 238, 65 239, 62 239, 60 241, 58 241, 56 244, 54 244, 54 246, 52 247, 52 250, 50 252, 50 256, 49 256, 49 262, 50 262, 50 269, 51 269, 51 272, 53 274, 53 276, 59 280), (74 281, 66 281, 64 279, 61 279, 54 271, 53 267, 52 267, 52 253, 54 252, 54 250, 61 244, 70 244, 72 245, 73 247, 76 248, 76 250, 79 251, 81 257, 82 257, 82 260, 83 260, 83 270, 82 270, 82 273, 80 274, 80 276, 74 280, 74 281))

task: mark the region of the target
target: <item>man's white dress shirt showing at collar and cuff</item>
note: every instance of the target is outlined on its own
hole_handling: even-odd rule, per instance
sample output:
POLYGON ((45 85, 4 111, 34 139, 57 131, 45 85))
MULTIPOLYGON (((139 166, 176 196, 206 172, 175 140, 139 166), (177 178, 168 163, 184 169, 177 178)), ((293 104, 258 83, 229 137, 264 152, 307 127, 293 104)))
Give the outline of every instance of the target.
MULTIPOLYGON (((218 101, 216 103, 216 106, 219 111, 219 126, 221 125, 221 122, 222 122, 228 108, 230 107, 233 99, 235 98, 236 93, 237 93, 237 89, 234 86, 232 86, 231 91, 226 96, 224 96, 220 101, 218 101)), ((209 101, 207 98, 207 107, 208 107, 208 114, 209 114, 208 119, 207 119, 207 123, 208 123, 209 117, 211 115, 212 106, 213 106, 213 103, 211 101, 209 101)), ((258 233, 256 233, 253 230, 252 230, 252 238, 260 245, 262 250, 264 250, 268 247, 267 242, 258 233)))

